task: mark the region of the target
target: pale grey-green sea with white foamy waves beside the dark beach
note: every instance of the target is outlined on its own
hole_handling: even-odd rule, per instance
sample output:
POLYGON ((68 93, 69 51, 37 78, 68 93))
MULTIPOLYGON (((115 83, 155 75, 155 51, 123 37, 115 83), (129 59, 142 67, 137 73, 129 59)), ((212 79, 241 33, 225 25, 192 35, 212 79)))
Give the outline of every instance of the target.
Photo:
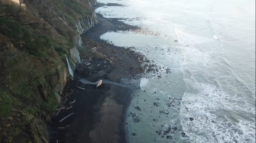
POLYGON ((98 2, 124 5, 96 12, 141 28, 101 39, 159 66, 134 90, 128 114, 140 121, 127 118, 130 143, 255 143, 254 0, 98 2), (169 138, 159 135, 168 128, 169 138))

